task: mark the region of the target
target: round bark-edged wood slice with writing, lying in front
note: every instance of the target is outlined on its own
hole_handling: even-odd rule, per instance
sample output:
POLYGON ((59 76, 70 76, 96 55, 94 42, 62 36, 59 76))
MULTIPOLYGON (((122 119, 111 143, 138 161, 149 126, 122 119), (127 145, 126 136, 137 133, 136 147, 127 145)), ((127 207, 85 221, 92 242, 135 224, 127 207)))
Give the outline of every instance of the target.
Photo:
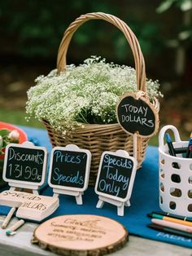
POLYGON ((63 255, 103 255, 128 241, 127 230, 111 218, 72 214, 50 218, 33 233, 33 243, 63 255))

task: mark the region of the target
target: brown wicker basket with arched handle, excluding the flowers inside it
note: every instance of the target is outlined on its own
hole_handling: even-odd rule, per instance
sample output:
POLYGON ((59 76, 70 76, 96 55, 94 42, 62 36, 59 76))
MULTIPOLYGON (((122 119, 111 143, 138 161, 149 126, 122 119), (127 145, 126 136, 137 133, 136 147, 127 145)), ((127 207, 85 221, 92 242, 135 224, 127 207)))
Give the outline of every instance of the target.
MULTIPOLYGON (((142 51, 140 49, 137 38, 129 26, 124 21, 118 19, 114 15, 109 15, 101 12, 88 13, 81 15, 64 33, 63 40, 59 46, 57 68, 58 73, 63 72, 66 67, 66 55, 68 51, 68 45, 72 39, 73 33, 76 32, 81 24, 84 24, 88 20, 106 20, 107 22, 115 25, 123 33, 129 45, 133 51, 133 57, 135 61, 135 68, 137 73, 137 90, 146 91, 146 70, 145 62, 143 59, 142 51)), ((159 111, 159 102, 155 99, 153 105, 157 111, 159 111)), ((124 149, 133 156, 133 136, 128 135, 121 129, 118 123, 110 125, 98 125, 98 124, 85 124, 84 128, 76 128, 65 135, 65 138, 56 130, 50 126, 50 123, 43 120, 44 125, 48 131, 50 142, 52 146, 66 146, 69 143, 74 143, 80 148, 89 149, 92 153, 91 170, 89 176, 89 184, 94 184, 98 173, 98 165, 100 157, 103 151, 116 151, 117 149, 124 149)), ((64 127, 63 127, 63 130, 64 127)), ((145 157, 146 146, 149 138, 137 137, 137 169, 141 167, 142 161, 145 157)))

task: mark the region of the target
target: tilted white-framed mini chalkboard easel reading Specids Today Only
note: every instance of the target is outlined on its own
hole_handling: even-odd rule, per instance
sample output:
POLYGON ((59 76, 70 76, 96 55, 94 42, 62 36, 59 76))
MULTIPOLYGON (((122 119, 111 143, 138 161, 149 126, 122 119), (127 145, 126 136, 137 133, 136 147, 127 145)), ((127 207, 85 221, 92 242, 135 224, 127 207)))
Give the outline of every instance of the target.
POLYGON ((117 214, 124 215, 124 206, 130 206, 130 197, 137 170, 137 160, 124 150, 103 152, 95 192, 98 194, 97 208, 104 202, 117 206, 117 214))

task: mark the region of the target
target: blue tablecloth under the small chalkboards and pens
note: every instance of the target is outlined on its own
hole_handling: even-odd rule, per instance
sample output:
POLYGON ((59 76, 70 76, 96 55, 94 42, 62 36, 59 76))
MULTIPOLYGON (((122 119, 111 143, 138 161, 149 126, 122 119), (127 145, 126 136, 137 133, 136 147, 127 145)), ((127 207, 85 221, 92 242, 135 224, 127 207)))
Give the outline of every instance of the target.
MULTIPOLYGON (((51 145, 46 130, 21 127, 28 136, 37 139, 41 146, 45 146, 49 151, 51 145)), ((74 196, 59 196, 59 209, 54 216, 62 214, 98 214, 116 219, 135 236, 142 236, 155 241, 164 241, 175 245, 182 245, 192 248, 192 239, 182 236, 170 235, 164 232, 157 232, 146 227, 151 223, 146 214, 159 209, 158 195, 158 148, 148 147, 146 160, 142 169, 137 170, 133 193, 131 196, 131 206, 124 210, 124 217, 117 216, 116 206, 105 203, 102 209, 97 209, 98 196, 94 193, 94 188, 89 187, 83 196, 83 205, 76 205, 74 196)), ((51 196, 52 189, 46 186, 41 190, 41 194, 51 196)), ((7 207, 0 207, 0 214, 7 214, 7 207)))

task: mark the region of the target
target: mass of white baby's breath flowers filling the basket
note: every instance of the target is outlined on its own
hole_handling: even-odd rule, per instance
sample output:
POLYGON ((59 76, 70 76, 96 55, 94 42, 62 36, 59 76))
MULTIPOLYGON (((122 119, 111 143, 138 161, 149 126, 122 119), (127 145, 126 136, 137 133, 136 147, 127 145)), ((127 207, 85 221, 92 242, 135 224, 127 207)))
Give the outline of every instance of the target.
MULTIPOLYGON (((137 91, 134 68, 109 64, 96 56, 78 67, 68 65, 64 73, 52 70, 35 82, 28 90, 26 112, 46 119, 56 130, 72 130, 86 123, 116 123, 120 96, 137 91)), ((158 81, 147 80, 146 87, 150 99, 162 96, 158 81)))

